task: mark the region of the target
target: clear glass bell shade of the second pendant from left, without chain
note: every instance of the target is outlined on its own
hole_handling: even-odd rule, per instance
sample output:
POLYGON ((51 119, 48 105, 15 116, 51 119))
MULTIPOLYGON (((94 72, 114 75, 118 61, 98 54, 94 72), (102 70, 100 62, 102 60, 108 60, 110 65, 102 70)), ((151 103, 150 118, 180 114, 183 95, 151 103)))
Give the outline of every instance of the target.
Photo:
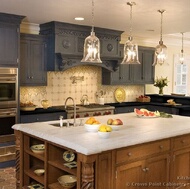
POLYGON ((138 45, 132 43, 129 37, 124 46, 124 58, 121 64, 140 64, 138 60, 138 45))

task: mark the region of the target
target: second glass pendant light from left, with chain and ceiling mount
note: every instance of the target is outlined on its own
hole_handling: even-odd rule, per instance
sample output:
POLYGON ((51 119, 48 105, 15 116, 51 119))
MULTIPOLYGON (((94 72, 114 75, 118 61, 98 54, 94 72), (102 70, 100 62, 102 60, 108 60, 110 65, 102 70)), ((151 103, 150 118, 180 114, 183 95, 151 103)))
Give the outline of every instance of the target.
POLYGON ((138 60, 138 45, 133 44, 132 37, 132 7, 136 5, 135 2, 127 2, 130 6, 130 35, 124 45, 124 58, 121 64, 140 64, 138 60))

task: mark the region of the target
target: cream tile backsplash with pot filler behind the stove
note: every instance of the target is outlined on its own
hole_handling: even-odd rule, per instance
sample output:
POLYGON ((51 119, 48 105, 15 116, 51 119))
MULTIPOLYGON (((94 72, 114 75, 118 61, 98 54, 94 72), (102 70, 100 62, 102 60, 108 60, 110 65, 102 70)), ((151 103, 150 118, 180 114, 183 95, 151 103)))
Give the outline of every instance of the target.
MULTIPOLYGON (((41 100, 47 99, 50 105, 64 105, 67 97, 73 97, 76 104, 81 103, 83 95, 90 103, 97 103, 97 92, 104 91, 104 102, 116 102, 114 91, 122 87, 126 92, 126 102, 135 101, 144 94, 144 85, 101 85, 102 72, 98 66, 77 66, 64 72, 48 72, 48 85, 42 87, 21 87, 21 102, 31 101, 41 107, 41 100)), ((68 102, 69 103, 69 102, 68 102)))

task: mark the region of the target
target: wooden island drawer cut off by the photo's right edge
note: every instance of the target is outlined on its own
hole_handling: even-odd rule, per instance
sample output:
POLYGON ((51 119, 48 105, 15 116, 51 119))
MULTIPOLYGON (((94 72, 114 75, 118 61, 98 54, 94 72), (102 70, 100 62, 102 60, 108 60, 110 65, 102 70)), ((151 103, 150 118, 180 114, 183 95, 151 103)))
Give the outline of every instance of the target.
POLYGON ((190 135, 176 137, 173 140, 174 150, 190 146, 190 135))

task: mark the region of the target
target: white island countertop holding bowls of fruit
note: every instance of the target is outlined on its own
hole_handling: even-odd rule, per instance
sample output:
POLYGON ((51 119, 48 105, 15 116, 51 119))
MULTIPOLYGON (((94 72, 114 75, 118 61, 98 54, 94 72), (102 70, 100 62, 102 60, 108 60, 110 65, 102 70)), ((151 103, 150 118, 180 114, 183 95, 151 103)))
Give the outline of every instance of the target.
POLYGON ((85 155, 190 133, 190 117, 138 118, 135 113, 96 117, 101 123, 106 123, 108 118, 119 118, 124 123, 119 131, 112 131, 108 139, 87 132, 84 126, 60 128, 49 125, 56 121, 16 124, 13 128, 85 155))

